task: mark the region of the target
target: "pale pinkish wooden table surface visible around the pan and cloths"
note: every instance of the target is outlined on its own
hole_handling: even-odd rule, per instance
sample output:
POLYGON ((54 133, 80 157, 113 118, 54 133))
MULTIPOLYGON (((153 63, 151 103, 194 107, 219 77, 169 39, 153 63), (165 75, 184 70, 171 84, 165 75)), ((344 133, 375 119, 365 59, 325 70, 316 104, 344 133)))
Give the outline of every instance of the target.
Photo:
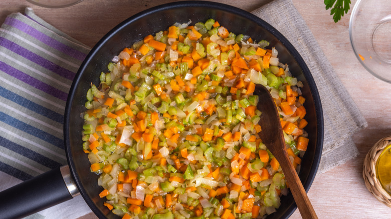
MULTIPOLYGON (((94 46, 112 27, 127 17, 172 0, 84 0, 50 9, 25 0, 1 0, 0 22, 12 12, 31 6, 36 14, 81 42, 94 46)), ((218 0, 252 11, 270 0, 218 0)), ((356 0, 352 0, 351 8, 356 0)), ((391 134, 391 84, 367 72, 356 59, 349 41, 349 17, 334 23, 323 0, 293 0, 338 77, 358 105, 368 127, 353 135, 360 152, 356 158, 315 177, 308 196, 319 218, 390 218, 391 208, 379 202, 365 187, 362 164, 367 151, 380 138, 391 134)), ((89 213, 80 218, 96 218, 89 213)), ((291 218, 301 218, 296 210, 291 218)))

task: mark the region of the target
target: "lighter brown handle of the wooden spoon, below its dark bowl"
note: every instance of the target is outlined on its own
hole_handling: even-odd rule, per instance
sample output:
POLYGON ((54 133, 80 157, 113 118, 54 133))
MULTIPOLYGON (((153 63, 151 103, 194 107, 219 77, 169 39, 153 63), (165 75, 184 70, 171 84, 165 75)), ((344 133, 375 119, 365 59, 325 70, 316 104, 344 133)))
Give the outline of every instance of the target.
MULTIPOLYGON (((288 154, 287 154, 288 155, 288 154)), ((293 198, 295 199, 296 205, 299 208, 300 214, 304 219, 313 219, 318 218, 315 213, 314 208, 307 196, 307 193, 304 190, 304 187, 300 181, 299 176, 297 175, 296 170, 294 169, 291 161, 287 156, 279 160, 282 171, 284 172, 287 183, 289 184, 289 189, 292 192, 293 198), (284 163, 285 162, 285 163, 284 163)))

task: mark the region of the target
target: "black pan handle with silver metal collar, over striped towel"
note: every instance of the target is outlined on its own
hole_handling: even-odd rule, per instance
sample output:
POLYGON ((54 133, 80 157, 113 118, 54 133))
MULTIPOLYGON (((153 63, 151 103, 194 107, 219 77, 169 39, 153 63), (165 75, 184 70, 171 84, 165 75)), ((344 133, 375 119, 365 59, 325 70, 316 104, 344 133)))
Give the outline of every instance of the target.
POLYGON ((49 170, 0 192, 2 218, 22 218, 78 195, 69 166, 49 170))

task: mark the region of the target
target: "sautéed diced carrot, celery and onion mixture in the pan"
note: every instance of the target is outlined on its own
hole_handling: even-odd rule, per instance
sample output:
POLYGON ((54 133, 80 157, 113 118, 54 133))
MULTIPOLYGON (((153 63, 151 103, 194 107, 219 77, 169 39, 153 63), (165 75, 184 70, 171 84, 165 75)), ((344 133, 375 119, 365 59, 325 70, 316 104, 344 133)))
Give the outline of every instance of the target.
POLYGON ((262 218, 288 188, 258 135, 255 84, 275 99, 295 167, 308 144, 303 84, 268 41, 189 24, 124 48, 91 84, 83 149, 99 195, 122 218, 262 218))

